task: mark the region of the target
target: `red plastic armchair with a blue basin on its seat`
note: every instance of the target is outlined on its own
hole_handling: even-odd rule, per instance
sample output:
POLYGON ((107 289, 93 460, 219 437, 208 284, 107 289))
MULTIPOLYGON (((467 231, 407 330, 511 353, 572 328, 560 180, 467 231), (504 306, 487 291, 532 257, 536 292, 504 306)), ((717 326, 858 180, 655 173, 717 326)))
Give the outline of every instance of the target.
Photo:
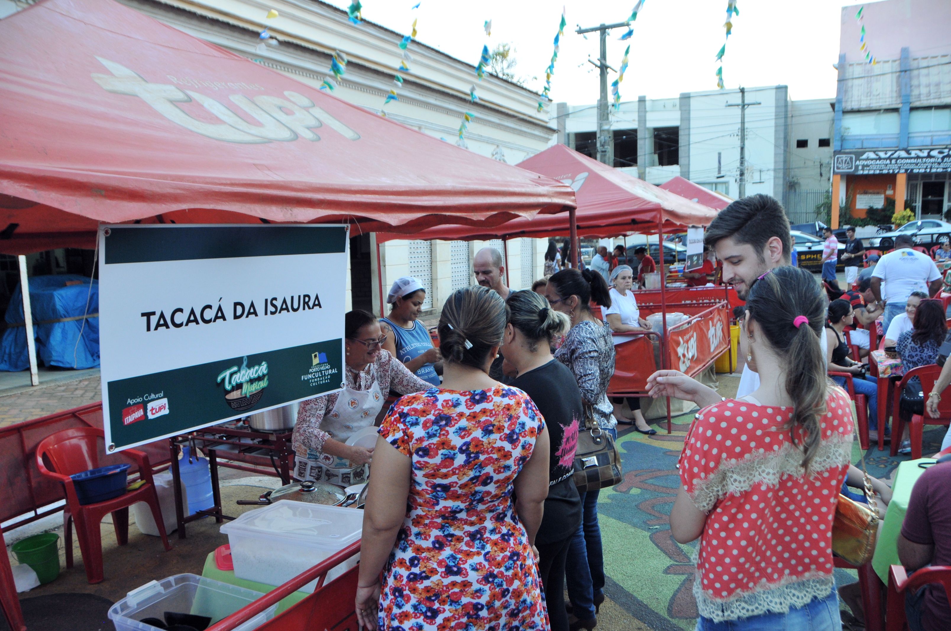
POLYGON ((165 536, 165 520, 159 507, 159 496, 152 482, 152 468, 145 451, 126 449, 117 455, 132 460, 139 468, 139 475, 146 481, 140 488, 126 491, 124 495, 82 506, 76 496, 72 478, 90 468, 99 468, 99 453, 105 433, 97 428, 73 428, 57 431, 47 436, 36 448, 36 467, 43 475, 63 483, 66 489, 67 506, 63 510, 63 538, 66 548, 66 566, 72 567, 72 522, 76 523, 76 537, 86 565, 89 583, 103 581, 103 543, 99 525, 108 513, 112 513, 119 545, 128 543, 128 507, 136 502, 146 502, 152 509, 152 517, 162 536, 165 550, 172 549, 165 536))

